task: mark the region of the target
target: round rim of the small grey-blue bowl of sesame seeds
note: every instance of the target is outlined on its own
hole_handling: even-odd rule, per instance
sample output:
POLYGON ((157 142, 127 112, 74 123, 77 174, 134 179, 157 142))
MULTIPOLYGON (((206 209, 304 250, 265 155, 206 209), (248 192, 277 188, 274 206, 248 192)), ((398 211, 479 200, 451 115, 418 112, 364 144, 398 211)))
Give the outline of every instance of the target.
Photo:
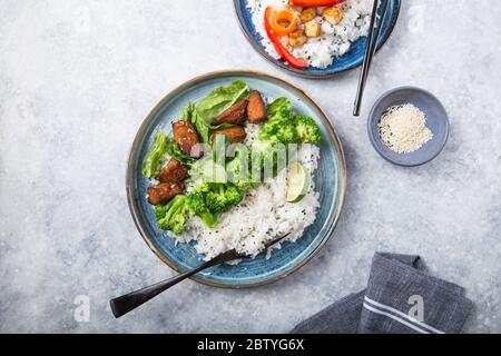
MULTIPOLYGON (((450 131, 451 131, 451 122, 449 121, 449 116, 448 116, 448 112, 446 112, 445 107, 443 106, 442 101, 440 101, 440 99, 435 95, 433 95, 431 91, 429 91, 426 89, 423 89, 423 88, 420 88, 420 87, 403 86, 403 87, 397 87, 397 88, 394 88, 394 89, 391 89, 391 90, 384 92, 374 102, 374 105, 372 106, 371 112, 369 113, 369 118, 367 118, 367 136, 369 136, 369 140, 371 141, 371 144, 374 147, 374 149, 376 150, 376 152, 380 154, 380 156, 383 157, 386 161, 389 161, 389 162, 391 162, 393 165, 396 165, 396 166, 400 166, 400 167, 406 167, 406 168, 424 166, 424 165, 431 162, 432 160, 434 160, 436 157, 439 157, 443 152, 443 150, 444 150, 444 148, 445 148, 448 141, 449 141, 450 131), (385 100, 387 97, 392 96, 393 93, 399 92, 399 91, 404 91, 404 90, 412 90, 412 91, 422 92, 422 93, 426 95, 432 100, 434 100, 435 103, 438 105, 438 107, 440 107, 443 110, 443 112, 445 113, 444 118, 445 118, 445 123, 446 125, 445 125, 444 135, 441 138, 442 141, 441 141, 440 150, 438 150, 435 154, 431 155, 425 160, 423 160, 421 162, 418 162, 418 164, 405 164, 405 162, 402 162, 402 161, 393 160, 392 158, 387 157, 385 155, 385 152, 382 151, 380 146, 376 144, 376 140, 381 141, 381 138, 379 136, 375 137, 373 135, 373 130, 372 130, 372 126, 373 126, 374 121, 376 120, 374 118, 374 111, 380 107, 381 102, 383 100, 385 100)), ((405 155, 405 154, 403 154, 403 155, 405 155)))

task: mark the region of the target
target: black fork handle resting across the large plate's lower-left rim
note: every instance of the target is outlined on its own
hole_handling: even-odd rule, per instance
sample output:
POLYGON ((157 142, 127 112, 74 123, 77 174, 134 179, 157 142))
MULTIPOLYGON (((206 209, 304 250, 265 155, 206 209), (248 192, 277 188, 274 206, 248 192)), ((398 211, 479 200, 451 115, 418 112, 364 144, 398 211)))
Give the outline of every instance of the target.
POLYGON ((219 265, 220 261, 218 259, 212 259, 199 267, 185 271, 184 274, 180 274, 176 277, 173 277, 170 279, 163 280, 160 283, 157 283, 155 285, 145 287, 143 289, 138 289, 135 291, 131 291, 129 294, 122 295, 118 298, 109 300, 109 305, 111 307, 111 312, 114 313, 116 318, 121 317, 122 315, 126 315, 130 310, 136 309, 138 306, 145 304, 149 299, 156 297, 164 290, 177 285, 179 281, 185 280, 186 278, 191 277, 193 275, 207 269, 209 267, 214 267, 216 265, 219 265))

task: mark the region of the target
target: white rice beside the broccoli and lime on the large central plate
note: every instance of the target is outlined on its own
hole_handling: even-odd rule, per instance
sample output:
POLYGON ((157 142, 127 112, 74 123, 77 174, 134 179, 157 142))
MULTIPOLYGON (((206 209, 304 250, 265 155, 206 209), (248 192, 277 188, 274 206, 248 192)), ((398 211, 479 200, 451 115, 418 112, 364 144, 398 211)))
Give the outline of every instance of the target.
MULTIPOLYGON (((303 145, 297 157, 291 161, 301 161, 313 177, 318 160, 318 147, 303 145)), ((210 259, 234 248, 255 257, 265 249, 267 241, 288 233, 291 235, 287 240, 297 240, 304 229, 315 221, 320 207, 318 194, 315 192, 314 181, 311 179, 308 194, 298 202, 287 202, 286 187, 287 169, 284 169, 277 177, 250 189, 239 206, 220 215, 216 228, 205 227, 198 218, 189 219, 185 231, 176 237, 177 243, 196 240, 197 251, 204 255, 205 259, 210 259)), ((266 256, 269 258, 271 250, 266 256)))

